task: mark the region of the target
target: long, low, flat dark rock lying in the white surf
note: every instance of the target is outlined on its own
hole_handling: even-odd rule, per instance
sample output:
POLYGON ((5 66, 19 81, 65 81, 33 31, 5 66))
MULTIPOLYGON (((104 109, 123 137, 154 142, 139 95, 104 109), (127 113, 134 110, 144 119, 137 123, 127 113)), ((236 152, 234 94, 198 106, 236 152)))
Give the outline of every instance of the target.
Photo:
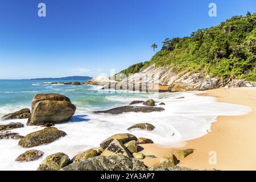
POLYGON ((122 106, 122 107, 115 107, 114 109, 109 109, 105 111, 94 111, 94 113, 108 113, 108 114, 122 114, 128 112, 135 112, 135 113, 151 113, 154 111, 164 111, 163 107, 151 107, 151 106, 122 106))

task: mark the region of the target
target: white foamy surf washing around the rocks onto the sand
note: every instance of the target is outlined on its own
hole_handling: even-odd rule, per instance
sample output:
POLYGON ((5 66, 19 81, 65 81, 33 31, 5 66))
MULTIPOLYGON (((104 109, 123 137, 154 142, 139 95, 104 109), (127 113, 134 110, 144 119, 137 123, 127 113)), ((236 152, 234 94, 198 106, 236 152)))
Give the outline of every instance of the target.
MULTIPOLYGON (((78 107, 71 122, 56 125, 60 130, 67 133, 55 142, 44 146, 33 148, 22 148, 18 146, 18 140, 0 140, 0 169, 1 170, 35 170, 46 156, 56 152, 64 152, 73 158, 79 152, 98 147, 102 140, 117 133, 131 133, 137 137, 146 137, 166 147, 180 147, 185 140, 202 137, 210 130, 211 123, 216 121, 218 115, 241 115, 250 111, 250 107, 232 105, 216 102, 214 97, 196 96, 196 92, 185 93, 160 93, 160 95, 147 95, 142 97, 108 96, 111 101, 122 101, 125 104, 133 100, 146 100, 148 97, 155 101, 164 102, 166 105, 161 113, 124 113, 118 115, 93 114, 78 107), (159 99, 159 97, 162 97, 159 99), (185 97, 177 99, 178 97, 185 97), (126 130, 135 123, 151 123, 156 128, 153 131, 126 130), (44 156, 35 162, 19 163, 15 158, 23 152, 36 149, 45 152, 44 156)), ((23 106, 19 106, 21 109, 23 106)), ((87 106, 84 106, 87 107, 87 106)), ((90 107, 95 110, 97 107, 90 107)), ((1 107, 0 114, 10 111, 9 107, 1 107)), ((18 108, 13 108, 18 109, 18 108)), ((89 110, 88 108, 86 110, 89 110)), ((7 112, 8 113, 8 112, 7 112)), ((11 122, 23 122, 27 119, 20 119, 11 122)), ((9 123, 10 121, 2 121, 9 123)), ((13 132, 26 135, 38 131, 42 127, 26 126, 21 129, 14 129, 13 132)), ((154 155, 154 154, 152 154, 154 155)))

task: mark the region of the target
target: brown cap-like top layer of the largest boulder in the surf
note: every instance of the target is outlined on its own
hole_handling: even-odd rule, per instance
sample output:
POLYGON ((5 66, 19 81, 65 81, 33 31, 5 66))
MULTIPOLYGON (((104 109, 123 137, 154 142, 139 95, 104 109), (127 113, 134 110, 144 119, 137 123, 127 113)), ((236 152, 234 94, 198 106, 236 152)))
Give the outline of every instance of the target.
POLYGON ((32 110, 34 109, 36 103, 39 101, 67 101, 71 103, 68 97, 61 94, 46 93, 46 94, 36 94, 32 100, 32 110))

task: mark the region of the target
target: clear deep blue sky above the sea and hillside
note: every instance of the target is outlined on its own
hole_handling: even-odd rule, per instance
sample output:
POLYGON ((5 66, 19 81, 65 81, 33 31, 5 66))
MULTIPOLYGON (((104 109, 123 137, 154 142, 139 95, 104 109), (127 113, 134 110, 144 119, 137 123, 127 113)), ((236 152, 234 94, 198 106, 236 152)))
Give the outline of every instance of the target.
POLYGON ((255 0, 0 0, 0 79, 95 76, 147 61, 165 38, 256 12, 255 0), (39 18, 38 4, 47 17, 39 18), (217 17, 208 16, 210 2, 217 17))

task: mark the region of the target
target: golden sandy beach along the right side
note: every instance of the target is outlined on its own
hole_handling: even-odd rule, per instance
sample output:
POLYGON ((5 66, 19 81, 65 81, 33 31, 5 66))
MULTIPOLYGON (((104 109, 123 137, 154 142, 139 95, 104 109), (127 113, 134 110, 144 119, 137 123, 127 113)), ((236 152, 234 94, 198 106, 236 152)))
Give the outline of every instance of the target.
MULTIPOLYGON (((245 105, 251 112, 240 116, 219 116, 212 124, 212 131, 201 138, 187 141, 181 148, 194 148, 195 152, 185 159, 180 159, 179 166, 192 169, 220 170, 256 170, 256 89, 230 88, 209 90, 201 96, 217 97, 218 102, 245 105), (216 164, 209 164, 211 156, 216 154, 216 164)), ((158 166, 163 155, 180 148, 162 148, 154 144, 144 144, 143 154, 155 155, 157 158, 146 158, 147 166, 158 166)))

